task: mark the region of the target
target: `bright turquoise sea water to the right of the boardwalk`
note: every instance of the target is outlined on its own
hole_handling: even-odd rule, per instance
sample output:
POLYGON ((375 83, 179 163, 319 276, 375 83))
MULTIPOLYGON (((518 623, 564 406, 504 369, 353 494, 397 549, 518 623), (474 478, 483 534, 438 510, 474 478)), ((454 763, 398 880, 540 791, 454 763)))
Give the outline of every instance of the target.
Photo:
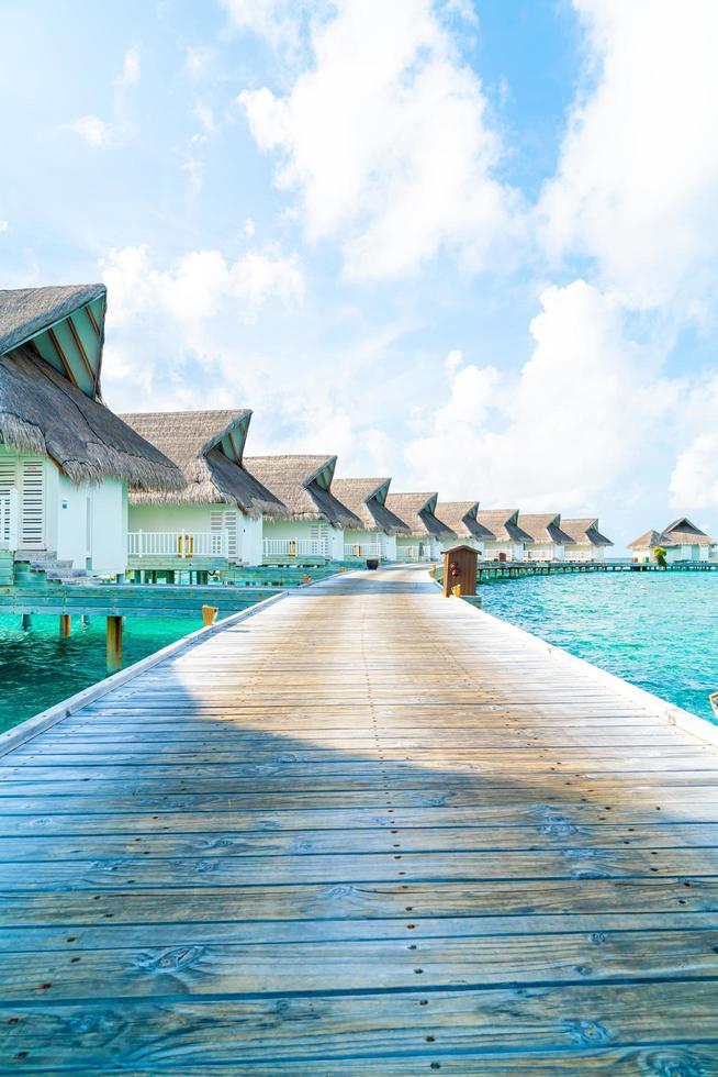
POLYGON ((486 613, 713 719, 718 573, 538 576, 479 593, 486 613))

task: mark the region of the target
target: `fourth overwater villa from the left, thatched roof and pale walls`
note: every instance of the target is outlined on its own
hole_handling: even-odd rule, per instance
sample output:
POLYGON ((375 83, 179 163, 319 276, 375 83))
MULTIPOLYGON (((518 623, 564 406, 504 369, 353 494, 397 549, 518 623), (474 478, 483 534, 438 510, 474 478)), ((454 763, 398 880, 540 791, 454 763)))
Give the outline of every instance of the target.
POLYGON ((391 479, 335 479, 332 490, 362 522, 360 531, 344 533, 344 557, 396 560, 396 536, 407 535, 408 524, 386 508, 391 479))

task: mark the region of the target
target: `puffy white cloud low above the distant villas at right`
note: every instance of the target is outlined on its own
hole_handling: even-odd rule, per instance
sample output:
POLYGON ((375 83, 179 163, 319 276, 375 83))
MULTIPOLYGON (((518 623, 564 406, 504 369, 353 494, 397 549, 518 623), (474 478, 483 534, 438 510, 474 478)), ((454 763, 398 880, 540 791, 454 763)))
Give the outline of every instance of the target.
POLYGON ((429 432, 406 446, 415 481, 489 506, 591 510, 630 470, 674 401, 660 356, 632 343, 617 301, 583 280, 541 295, 517 377, 456 368, 429 432))

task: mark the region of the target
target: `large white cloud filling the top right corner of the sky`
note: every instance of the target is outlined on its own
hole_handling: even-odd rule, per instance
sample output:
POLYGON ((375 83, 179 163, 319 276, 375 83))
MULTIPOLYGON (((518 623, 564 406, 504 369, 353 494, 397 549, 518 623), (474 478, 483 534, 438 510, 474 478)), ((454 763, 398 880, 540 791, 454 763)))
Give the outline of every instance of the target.
POLYGON ((718 284, 718 4, 574 0, 590 51, 540 207, 554 255, 636 308, 700 314, 718 284))

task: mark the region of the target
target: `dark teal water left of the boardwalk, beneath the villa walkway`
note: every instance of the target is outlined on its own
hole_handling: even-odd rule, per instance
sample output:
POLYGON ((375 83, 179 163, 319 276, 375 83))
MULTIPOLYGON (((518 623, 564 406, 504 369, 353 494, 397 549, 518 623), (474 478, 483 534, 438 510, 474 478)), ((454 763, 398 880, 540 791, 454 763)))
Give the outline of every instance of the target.
MULTIPOLYGON (((189 632, 202 618, 126 618, 122 641, 123 666, 189 632)), ((33 617, 23 632, 18 615, 0 615, 0 733, 108 676, 105 619, 89 628, 72 618, 72 634, 59 639, 59 618, 33 617)))

